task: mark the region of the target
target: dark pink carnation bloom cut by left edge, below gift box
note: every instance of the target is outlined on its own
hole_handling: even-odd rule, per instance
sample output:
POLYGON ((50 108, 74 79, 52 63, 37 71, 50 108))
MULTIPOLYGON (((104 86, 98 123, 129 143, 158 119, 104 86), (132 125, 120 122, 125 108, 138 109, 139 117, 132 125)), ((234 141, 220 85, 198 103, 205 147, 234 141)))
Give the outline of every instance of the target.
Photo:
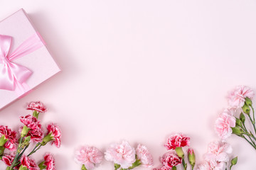
POLYGON ((9 129, 8 126, 0 125, 0 137, 3 135, 6 139, 8 139, 8 141, 4 144, 4 147, 10 151, 16 150, 16 132, 9 129))

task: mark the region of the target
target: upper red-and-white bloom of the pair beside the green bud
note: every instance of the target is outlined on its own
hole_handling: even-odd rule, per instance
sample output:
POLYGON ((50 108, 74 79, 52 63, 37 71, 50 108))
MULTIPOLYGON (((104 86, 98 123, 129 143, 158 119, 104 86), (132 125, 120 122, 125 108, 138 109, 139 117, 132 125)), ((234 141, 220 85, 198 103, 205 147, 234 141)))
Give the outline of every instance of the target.
POLYGON ((189 143, 190 137, 180 133, 171 135, 164 146, 167 149, 176 149, 176 147, 189 147, 189 143))

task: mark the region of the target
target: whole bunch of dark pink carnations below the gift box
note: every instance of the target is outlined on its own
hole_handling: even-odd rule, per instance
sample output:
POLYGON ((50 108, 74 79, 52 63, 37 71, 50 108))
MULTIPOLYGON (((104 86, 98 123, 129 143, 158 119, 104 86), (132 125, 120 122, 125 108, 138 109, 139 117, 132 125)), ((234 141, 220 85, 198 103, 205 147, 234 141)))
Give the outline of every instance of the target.
POLYGON ((58 125, 50 123, 47 125, 48 132, 46 135, 43 134, 38 115, 45 113, 47 108, 40 101, 29 103, 27 110, 33 111, 33 115, 21 115, 20 120, 23 126, 18 130, 19 139, 16 131, 0 125, 0 159, 6 164, 6 170, 55 170, 55 160, 52 154, 46 154, 40 164, 36 164, 31 155, 48 142, 60 147, 60 128, 58 125), (29 154, 25 155, 25 151, 31 143, 36 143, 36 145, 29 154), (6 149, 9 152, 6 153, 6 149))

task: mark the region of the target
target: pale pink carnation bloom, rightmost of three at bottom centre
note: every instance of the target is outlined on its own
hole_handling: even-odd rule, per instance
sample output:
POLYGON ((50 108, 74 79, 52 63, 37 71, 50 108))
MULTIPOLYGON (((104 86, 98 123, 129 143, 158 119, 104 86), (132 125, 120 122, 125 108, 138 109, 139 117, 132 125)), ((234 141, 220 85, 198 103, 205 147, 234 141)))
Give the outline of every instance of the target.
POLYGON ((137 159, 141 161, 142 166, 149 168, 153 165, 153 157, 144 145, 138 145, 136 149, 136 154, 137 159))

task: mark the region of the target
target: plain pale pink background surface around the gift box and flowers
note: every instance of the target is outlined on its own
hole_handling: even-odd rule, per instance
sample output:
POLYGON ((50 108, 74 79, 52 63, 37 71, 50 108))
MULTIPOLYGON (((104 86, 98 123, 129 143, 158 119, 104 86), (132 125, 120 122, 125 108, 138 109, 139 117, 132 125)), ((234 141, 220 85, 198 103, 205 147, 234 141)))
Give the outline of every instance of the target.
MULTIPOLYGON (((26 103, 46 103, 42 123, 58 123, 63 142, 35 158, 53 152, 57 169, 80 169, 73 162, 80 145, 104 150, 122 139, 149 147, 156 167, 172 132, 191 137, 201 162, 218 140, 213 123, 227 92, 238 84, 256 89, 255 1, 16 0, 1 1, 0 18, 19 8, 63 72, 0 111, 0 124, 18 128, 26 103)), ((234 170, 255 168, 250 145, 234 135, 228 142, 238 155, 234 170)))

